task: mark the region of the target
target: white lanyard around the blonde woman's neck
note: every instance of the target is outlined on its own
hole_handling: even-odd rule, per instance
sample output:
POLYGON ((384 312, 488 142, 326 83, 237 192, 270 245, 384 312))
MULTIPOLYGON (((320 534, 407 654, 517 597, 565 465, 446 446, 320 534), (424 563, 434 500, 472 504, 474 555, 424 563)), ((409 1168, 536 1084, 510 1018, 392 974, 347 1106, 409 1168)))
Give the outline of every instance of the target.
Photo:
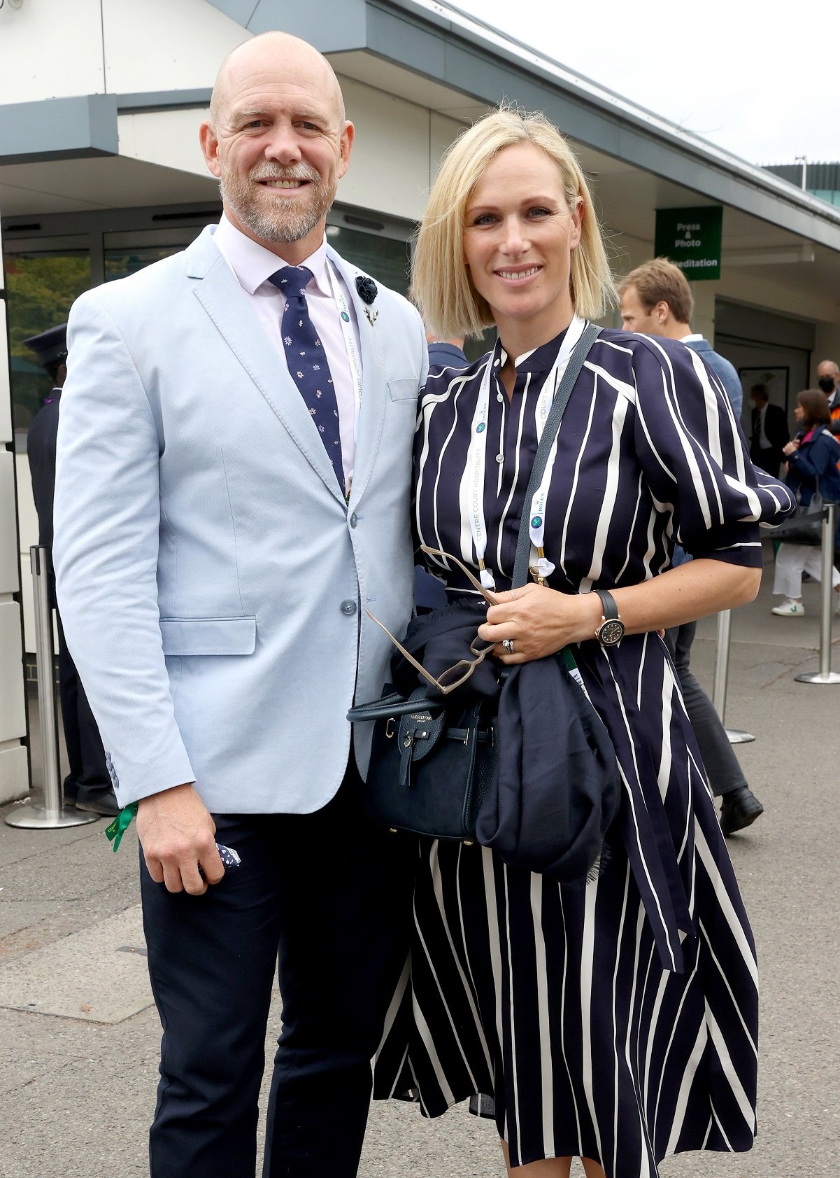
MULTIPOLYGON (((586 327, 586 320, 581 319, 580 316, 575 315, 568 325, 568 330, 564 336, 560 350, 556 355, 551 371, 548 372, 540 395, 536 401, 536 441, 539 444, 542 437, 542 430, 546 425, 546 418, 554 401, 554 395, 556 393, 562 375, 566 371, 566 365, 568 364, 569 356, 574 349, 574 345, 580 339, 584 329, 586 327)), ((473 412, 472 429, 469 435, 469 449, 467 451, 467 485, 469 491, 469 530, 472 532, 473 545, 475 548, 475 557, 479 562, 479 574, 481 578, 481 584, 485 589, 495 589, 495 578, 491 569, 485 565, 485 554, 487 551, 487 521, 485 518, 485 464, 486 464, 486 451, 487 451, 487 417, 489 413, 489 389, 491 380, 493 378, 493 356, 491 355, 487 359, 485 366, 484 376, 481 377, 481 386, 479 388, 479 396, 475 403, 475 410, 473 412)), ((542 583, 542 581, 554 571, 554 565, 551 561, 546 560, 545 552, 542 550, 542 541, 546 530, 546 499, 548 498, 548 488, 551 485, 552 468, 554 465, 554 459, 556 457, 558 441, 554 439, 551 457, 546 465, 546 471, 542 476, 542 482, 534 494, 531 507, 531 544, 532 544, 532 561, 529 567, 536 580, 542 583)), ((469 554, 465 554, 467 560, 469 554)))

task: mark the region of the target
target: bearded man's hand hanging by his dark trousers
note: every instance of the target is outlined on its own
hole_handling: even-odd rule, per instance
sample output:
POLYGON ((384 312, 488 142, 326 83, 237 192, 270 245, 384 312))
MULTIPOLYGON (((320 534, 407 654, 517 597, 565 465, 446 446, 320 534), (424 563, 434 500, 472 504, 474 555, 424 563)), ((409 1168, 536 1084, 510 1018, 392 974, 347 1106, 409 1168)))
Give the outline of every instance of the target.
POLYGON ((215 849, 215 822, 191 785, 144 798, 138 835, 149 875, 155 884, 166 884, 168 892, 202 895, 225 874, 215 849))

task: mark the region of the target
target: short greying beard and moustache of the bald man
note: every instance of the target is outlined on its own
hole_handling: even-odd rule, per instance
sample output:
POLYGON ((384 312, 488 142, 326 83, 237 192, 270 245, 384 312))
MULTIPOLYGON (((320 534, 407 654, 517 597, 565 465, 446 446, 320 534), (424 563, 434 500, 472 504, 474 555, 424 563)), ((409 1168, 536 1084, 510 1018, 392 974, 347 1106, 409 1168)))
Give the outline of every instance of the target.
POLYGON ((293 168, 260 165, 251 170, 247 180, 222 172, 219 188, 225 205, 262 241, 300 241, 326 217, 335 197, 335 191, 327 190, 320 173, 306 164, 293 168), (272 206, 266 207, 254 192, 254 184, 265 179, 309 180, 308 196, 305 201, 278 196, 272 206))

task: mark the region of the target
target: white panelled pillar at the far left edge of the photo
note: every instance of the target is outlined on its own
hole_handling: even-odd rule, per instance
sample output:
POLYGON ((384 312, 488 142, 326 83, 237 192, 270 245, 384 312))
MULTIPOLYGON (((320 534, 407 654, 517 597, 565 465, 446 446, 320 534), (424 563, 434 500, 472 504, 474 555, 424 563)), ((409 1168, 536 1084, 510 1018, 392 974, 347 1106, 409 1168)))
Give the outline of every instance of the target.
MULTIPOLYGON (((0 241, 2 257, 2 241, 0 241)), ((29 788, 6 289, 0 266, 0 805, 29 788)))

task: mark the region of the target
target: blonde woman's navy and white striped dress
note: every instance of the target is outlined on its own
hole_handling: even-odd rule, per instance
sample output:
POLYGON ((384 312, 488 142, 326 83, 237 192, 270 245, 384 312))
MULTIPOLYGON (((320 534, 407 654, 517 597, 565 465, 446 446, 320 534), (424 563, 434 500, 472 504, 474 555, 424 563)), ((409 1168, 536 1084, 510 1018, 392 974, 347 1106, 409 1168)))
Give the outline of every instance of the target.
MULTIPOLYGON (((516 364, 495 350, 426 385, 415 443, 422 543, 476 567, 465 471, 492 365, 486 564, 509 585, 536 450, 535 403, 561 338, 516 364), (500 461, 494 461, 496 457, 500 461)), ((605 331, 559 434, 546 501, 549 584, 638 584, 694 556, 760 567, 758 522, 791 496, 747 457, 716 378, 679 343, 605 331)), ((466 582, 429 568, 452 590, 466 582)), ((755 1133, 756 969, 749 924, 675 673, 658 635, 584 643, 587 694, 615 744, 621 815, 596 879, 561 886, 479 846, 419 848, 411 958, 374 1096, 427 1116, 471 1098, 513 1165, 594 1158, 647 1178, 666 1154, 742 1151, 755 1133)))

